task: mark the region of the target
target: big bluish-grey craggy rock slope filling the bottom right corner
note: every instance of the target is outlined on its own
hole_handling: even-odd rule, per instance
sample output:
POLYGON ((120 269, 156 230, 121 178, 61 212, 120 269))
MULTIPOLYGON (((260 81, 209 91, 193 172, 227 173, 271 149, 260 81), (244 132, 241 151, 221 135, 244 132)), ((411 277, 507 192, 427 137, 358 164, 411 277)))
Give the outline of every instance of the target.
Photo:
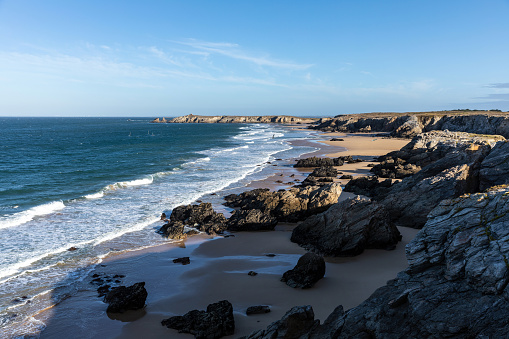
MULTIPOLYGON (((322 326, 299 337, 507 337, 507 225, 509 188, 442 201, 407 245, 405 271, 359 306, 346 313, 336 308, 322 326)), ((278 324, 269 326, 270 333, 278 333, 278 324)), ((259 335, 267 330, 249 338, 271 338, 259 335)))

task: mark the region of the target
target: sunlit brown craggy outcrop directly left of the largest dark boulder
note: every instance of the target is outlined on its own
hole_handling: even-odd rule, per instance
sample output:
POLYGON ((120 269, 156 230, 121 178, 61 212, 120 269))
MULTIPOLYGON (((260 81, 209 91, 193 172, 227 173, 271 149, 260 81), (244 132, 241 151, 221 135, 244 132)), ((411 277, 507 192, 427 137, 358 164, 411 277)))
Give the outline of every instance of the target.
POLYGON ((324 186, 293 187, 289 190, 271 192, 269 189, 255 189, 225 197, 226 205, 242 210, 258 209, 278 221, 295 222, 325 211, 336 203, 341 186, 336 183, 324 186))

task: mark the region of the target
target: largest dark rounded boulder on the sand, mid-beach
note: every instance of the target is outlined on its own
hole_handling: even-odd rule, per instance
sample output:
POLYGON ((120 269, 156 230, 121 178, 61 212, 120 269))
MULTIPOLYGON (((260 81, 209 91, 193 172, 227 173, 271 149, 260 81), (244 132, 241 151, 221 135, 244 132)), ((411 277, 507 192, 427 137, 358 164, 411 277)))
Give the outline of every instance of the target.
POLYGON ((291 241, 327 256, 354 256, 365 249, 394 249, 401 234, 387 209, 359 196, 313 215, 292 232, 291 241))

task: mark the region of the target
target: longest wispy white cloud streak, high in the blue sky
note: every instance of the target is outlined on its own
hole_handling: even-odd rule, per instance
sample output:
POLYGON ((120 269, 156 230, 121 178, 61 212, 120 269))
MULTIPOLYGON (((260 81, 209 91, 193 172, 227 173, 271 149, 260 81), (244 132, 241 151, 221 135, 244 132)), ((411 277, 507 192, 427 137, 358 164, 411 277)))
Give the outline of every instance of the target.
POLYGON ((258 66, 269 66, 274 68, 283 68, 290 70, 305 70, 312 67, 312 64, 297 64, 268 57, 253 56, 240 49, 237 44, 227 42, 207 42, 191 39, 189 41, 173 41, 174 43, 188 46, 199 51, 205 51, 210 54, 219 54, 232 59, 243 60, 258 66))

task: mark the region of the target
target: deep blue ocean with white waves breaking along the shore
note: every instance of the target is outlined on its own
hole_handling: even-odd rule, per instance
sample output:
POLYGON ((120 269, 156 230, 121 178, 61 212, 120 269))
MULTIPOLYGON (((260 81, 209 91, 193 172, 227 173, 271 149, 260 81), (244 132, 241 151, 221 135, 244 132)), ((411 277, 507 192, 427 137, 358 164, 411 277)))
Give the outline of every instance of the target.
POLYGON ((42 329, 33 315, 105 256, 172 241, 156 233, 162 212, 224 208, 275 173, 267 162, 313 151, 290 144, 311 131, 281 125, 149 121, 0 118, 0 336, 42 329))

